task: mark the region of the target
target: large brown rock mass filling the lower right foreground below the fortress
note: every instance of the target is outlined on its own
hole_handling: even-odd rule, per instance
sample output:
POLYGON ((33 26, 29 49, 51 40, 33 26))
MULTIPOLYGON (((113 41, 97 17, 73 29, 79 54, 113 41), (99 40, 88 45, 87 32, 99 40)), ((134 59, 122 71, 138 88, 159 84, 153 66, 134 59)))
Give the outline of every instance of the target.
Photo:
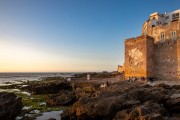
POLYGON ((162 120, 179 110, 180 95, 169 85, 122 81, 104 89, 95 86, 75 85, 77 101, 62 113, 62 120, 162 120))

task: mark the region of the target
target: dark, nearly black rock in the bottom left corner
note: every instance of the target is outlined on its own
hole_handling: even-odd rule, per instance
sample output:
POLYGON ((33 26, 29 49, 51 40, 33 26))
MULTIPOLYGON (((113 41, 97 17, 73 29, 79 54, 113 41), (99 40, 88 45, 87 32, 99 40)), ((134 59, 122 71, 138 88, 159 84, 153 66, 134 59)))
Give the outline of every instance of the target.
POLYGON ((14 93, 0 93, 0 119, 12 120, 20 113, 23 105, 21 98, 14 93))

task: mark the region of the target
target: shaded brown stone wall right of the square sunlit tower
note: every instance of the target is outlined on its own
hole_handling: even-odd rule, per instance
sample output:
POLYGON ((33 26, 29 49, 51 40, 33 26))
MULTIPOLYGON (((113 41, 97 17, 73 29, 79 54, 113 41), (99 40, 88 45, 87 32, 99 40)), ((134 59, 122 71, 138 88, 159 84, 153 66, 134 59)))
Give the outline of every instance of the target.
POLYGON ((155 44, 154 73, 158 79, 180 78, 180 39, 155 44))

